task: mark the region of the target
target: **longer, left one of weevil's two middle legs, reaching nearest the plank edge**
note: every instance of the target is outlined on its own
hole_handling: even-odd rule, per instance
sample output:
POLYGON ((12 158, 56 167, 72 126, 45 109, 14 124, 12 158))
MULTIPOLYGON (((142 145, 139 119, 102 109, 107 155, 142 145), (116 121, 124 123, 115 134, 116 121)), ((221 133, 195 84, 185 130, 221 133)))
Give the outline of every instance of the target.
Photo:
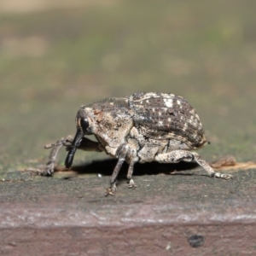
POLYGON ((121 167, 123 166, 123 163, 125 161, 125 156, 128 152, 129 146, 127 144, 122 144, 116 152, 116 156, 118 157, 118 162, 116 166, 113 169, 113 173, 111 176, 111 181, 110 181, 110 187, 107 189, 106 196, 107 195, 114 195, 116 192, 116 177, 118 176, 121 167))

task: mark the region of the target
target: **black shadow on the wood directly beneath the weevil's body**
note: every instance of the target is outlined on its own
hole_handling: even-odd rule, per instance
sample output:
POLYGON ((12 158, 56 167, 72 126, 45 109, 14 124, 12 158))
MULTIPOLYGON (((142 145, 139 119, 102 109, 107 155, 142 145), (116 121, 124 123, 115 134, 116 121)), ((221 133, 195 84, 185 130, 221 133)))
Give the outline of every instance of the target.
MULTIPOLYGON (((113 168, 116 165, 117 160, 96 160, 90 164, 81 164, 79 166, 73 166, 73 172, 78 174, 88 174, 88 173, 100 173, 105 176, 111 176, 113 168)), ((119 172, 119 177, 126 176, 128 170, 128 164, 124 163, 119 172)), ((137 163, 134 168, 133 176, 143 176, 143 175, 157 175, 157 174, 172 174, 175 172, 180 175, 191 175, 191 173, 178 173, 181 171, 189 171, 195 169, 199 165, 195 162, 179 162, 175 164, 160 164, 158 162, 149 162, 140 164, 137 163)))

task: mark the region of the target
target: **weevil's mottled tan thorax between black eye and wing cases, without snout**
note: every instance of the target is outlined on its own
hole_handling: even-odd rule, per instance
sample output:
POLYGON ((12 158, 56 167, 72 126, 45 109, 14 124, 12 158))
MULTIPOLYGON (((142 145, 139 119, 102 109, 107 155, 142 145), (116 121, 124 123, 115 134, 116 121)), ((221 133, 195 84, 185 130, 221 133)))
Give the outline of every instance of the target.
POLYGON ((128 106, 128 98, 108 98, 101 102, 83 105, 78 115, 89 121, 90 134, 94 134, 108 154, 116 149, 131 131, 133 111, 128 106))

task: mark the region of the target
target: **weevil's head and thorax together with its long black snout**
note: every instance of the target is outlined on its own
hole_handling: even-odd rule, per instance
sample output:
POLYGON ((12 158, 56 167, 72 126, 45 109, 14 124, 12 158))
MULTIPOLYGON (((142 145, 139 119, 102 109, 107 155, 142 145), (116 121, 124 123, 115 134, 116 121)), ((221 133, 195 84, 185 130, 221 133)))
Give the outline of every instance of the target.
POLYGON ((133 124, 131 115, 126 97, 108 98, 81 106, 76 116, 77 133, 67 154, 66 167, 72 165, 74 154, 84 135, 94 134, 101 143, 113 148, 124 143, 124 138, 133 124))

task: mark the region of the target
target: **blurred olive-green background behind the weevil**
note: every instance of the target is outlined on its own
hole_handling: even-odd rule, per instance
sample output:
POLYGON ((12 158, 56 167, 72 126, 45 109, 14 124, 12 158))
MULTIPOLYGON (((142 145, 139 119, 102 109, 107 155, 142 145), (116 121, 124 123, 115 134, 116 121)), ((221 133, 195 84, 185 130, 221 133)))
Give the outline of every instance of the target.
POLYGON ((207 160, 253 160, 255 1, 62 2, 1 0, 2 177, 43 166, 44 144, 75 132, 80 105, 136 91, 187 98, 212 142, 207 160))

